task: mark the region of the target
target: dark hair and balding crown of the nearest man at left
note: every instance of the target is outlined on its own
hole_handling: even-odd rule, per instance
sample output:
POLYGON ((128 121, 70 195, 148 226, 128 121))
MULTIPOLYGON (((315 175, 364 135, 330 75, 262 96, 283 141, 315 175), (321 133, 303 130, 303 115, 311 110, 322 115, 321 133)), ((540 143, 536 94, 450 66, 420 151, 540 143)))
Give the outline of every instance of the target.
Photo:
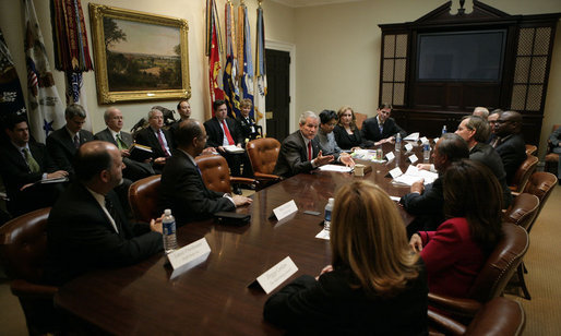
POLYGON ((111 168, 112 158, 107 144, 105 141, 95 141, 87 144, 87 151, 84 146, 80 147, 73 161, 74 172, 80 181, 87 182, 103 170, 111 168))

